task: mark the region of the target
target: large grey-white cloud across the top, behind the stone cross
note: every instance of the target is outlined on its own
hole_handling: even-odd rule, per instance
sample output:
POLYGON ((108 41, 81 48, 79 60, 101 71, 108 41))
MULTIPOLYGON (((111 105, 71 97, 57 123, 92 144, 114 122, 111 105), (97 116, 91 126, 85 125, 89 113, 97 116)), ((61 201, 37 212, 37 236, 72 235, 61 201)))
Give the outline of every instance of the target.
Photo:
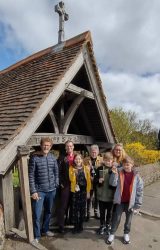
MULTIPOLYGON (((57 43, 58 1, 5 0, 0 21, 9 25, 28 53, 57 43)), ((159 0, 66 0, 70 19, 66 38, 91 30, 96 57, 104 70, 157 73, 160 66, 159 0)), ((8 34, 9 36, 10 34, 8 34)))

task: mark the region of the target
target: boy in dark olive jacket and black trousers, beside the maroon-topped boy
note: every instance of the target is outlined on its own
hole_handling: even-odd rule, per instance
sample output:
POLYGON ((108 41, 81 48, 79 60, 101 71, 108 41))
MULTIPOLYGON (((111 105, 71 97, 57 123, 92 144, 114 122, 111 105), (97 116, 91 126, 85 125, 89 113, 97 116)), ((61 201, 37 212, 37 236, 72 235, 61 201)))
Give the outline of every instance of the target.
POLYGON ((97 198, 100 210, 100 228, 98 234, 109 234, 112 219, 114 187, 109 185, 109 177, 112 173, 113 155, 110 152, 103 156, 103 165, 96 170, 97 198), (107 212, 107 213, 106 213, 107 212))

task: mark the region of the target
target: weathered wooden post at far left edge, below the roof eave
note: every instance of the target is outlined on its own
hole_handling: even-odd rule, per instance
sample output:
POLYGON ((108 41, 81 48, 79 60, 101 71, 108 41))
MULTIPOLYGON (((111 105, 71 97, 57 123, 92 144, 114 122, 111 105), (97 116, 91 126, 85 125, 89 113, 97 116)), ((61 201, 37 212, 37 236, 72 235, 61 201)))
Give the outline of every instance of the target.
POLYGON ((4 210, 5 231, 8 233, 15 226, 14 192, 12 170, 1 175, 0 199, 4 210))

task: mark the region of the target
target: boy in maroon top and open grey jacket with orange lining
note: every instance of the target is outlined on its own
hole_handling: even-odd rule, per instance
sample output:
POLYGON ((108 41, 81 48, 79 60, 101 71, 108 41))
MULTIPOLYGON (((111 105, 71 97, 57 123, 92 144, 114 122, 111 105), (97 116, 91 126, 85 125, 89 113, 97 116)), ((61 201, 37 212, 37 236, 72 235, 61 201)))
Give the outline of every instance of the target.
POLYGON ((130 243, 129 232, 133 213, 137 213, 142 205, 143 181, 139 174, 133 170, 134 161, 126 157, 122 162, 122 168, 118 171, 112 168, 110 184, 117 186, 114 195, 115 210, 112 218, 112 225, 107 244, 114 240, 114 234, 119 226, 122 213, 125 212, 124 243, 130 243))

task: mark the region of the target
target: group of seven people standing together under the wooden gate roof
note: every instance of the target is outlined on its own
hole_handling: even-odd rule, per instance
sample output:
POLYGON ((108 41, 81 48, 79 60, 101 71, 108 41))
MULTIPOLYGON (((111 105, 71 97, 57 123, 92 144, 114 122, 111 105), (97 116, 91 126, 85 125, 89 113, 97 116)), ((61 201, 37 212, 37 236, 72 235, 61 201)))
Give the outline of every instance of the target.
POLYGON ((118 143, 103 155, 99 154, 98 145, 92 145, 90 155, 83 158, 74 152, 73 142, 67 141, 66 155, 57 160, 50 153, 51 148, 52 140, 42 138, 41 151, 29 161, 35 240, 38 242, 41 235, 54 235, 49 222, 57 192, 59 233, 65 232, 66 223, 73 225, 72 233, 82 232, 93 204, 94 217, 100 219, 97 234, 106 234, 106 243, 111 244, 125 212, 124 243, 130 243, 132 215, 142 204, 143 181, 123 145, 118 143))

